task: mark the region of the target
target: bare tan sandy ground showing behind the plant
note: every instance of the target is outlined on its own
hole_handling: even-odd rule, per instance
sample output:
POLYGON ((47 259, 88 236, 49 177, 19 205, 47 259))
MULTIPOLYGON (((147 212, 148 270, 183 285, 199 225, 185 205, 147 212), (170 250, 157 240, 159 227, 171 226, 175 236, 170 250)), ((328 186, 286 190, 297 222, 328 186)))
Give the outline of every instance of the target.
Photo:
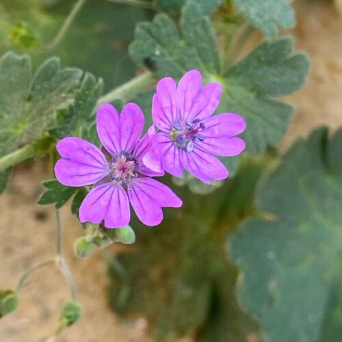
MULTIPOLYGON (((287 99, 295 104, 296 116, 280 143, 287 148, 295 137, 313 127, 342 124, 342 18, 328 2, 296 5, 298 26, 293 29, 298 49, 312 60, 308 83, 287 99)), ((55 253, 55 216, 52 207, 35 204, 40 180, 47 179, 43 163, 16 170, 8 192, 0 197, 0 288, 14 288, 21 274, 55 253)), ((81 226, 68 208, 62 211, 66 260, 75 275, 83 319, 65 330, 57 340, 70 342, 148 342, 146 323, 119 321, 105 300, 106 263, 101 253, 81 260, 73 255, 73 241, 82 235, 81 226)), ((57 326, 60 308, 69 289, 54 266, 29 278, 18 310, 0 321, 0 341, 45 341, 57 326)))

